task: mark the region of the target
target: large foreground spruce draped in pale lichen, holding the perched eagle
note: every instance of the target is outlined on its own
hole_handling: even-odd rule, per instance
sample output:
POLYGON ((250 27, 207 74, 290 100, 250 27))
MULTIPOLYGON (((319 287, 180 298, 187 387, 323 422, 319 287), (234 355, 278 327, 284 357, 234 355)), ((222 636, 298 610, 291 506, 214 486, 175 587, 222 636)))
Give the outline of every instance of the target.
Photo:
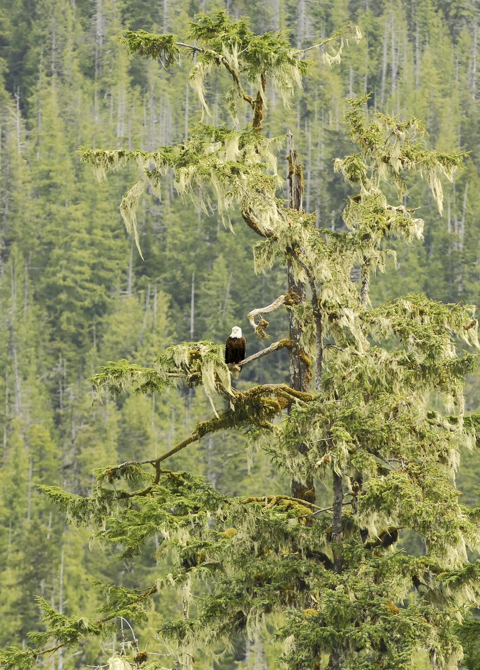
MULTIPOLYGON (((346 26, 325 40, 318 46, 325 64, 339 61, 343 42, 359 38, 346 26)), ((137 245, 139 200, 146 189, 161 194, 165 179, 227 226, 240 211, 259 237, 255 271, 278 259, 287 275, 283 295, 252 306, 254 333, 266 336, 264 316, 274 310, 289 314, 285 338, 244 366, 287 348, 290 381, 234 389, 222 346, 206 340, 169 346, 149 368, 125 359, 102 366, 92 378, 99 396, 127 389, 155 393, 161 402, 165 389, 182 383, 203 387, 212 406, 210 418, 161 456, 98 469, 91 496, 42 487, 71 523, 89 525, 105 545, 121 545, 123 557, 159 537, 162 567, 141 590, 98 584, 104 606, 95 618, 66 616, 41 600, 45 630, 30 634, 30 647, 3 651, 2 667, 30 668, 57 649, 121 629, 110 669, 189 669, 197 649, 228 651, 265 620, 281 620, 274 637, 285 643, 281 662, 289 670, 406 670, 421 649, 432 668, 456 668, 463 653, 457 621, 480 594, 480 563, 467 557, 480 545, 479 511, 459 502, 454 481, 461 446, 473 446, 480 430, 475 416, 464 416, 462 395, 476 355, 457 350, 461 343, 478 348, 477 320, 471 306, 422 295, 373 308, 369 285, 392 253, 387 239, 422 237, 422 220, 406 205, 407 175, 426 180, 441 213, 441 179, 462 169, 464 153, 430 150, 418 119, 370 115, 368 95, 350 99, 345 121, 355 149, 334 165, 351 186, 345 227, 321 228, 315 212, 303 208, 293 137, 286 205, 278 198, 283 180, 274 153, 285 138, 262 132, 269 92, 287 105, 309 74, 305 51, 291 48, 282 31, 257 36, 224 12, 199 15, 191 45, 143 30, 124 31, 121 39, 130 54, 165 68, 183 52, 193 56, 189 82, 206 113, 206 78, 214 70, 228 76, 224 100, 234 129, 200 123, 179 145, 83 148, 82 159, 100 180, 127 163, 139 166, 121 203, 137 245), (252 123, 238 129, 242 100, 252 123), (382 188, 396 192, 397 204, 382 188), (432 409, 432 394, 444 412, 432 409), (260 444, 291 478, 291 494, 228 496, 195 472, 166 469, 180 450, 228 430, 260 444), (315 502, 315 479, 331 490, 327 507, 315 502), (401 548, 406 531, 420 537, 422 555, 401 548), (171 586, 182 616, 163 618, 157 639, 170 651, 161 658, 134 631, 171 586)))

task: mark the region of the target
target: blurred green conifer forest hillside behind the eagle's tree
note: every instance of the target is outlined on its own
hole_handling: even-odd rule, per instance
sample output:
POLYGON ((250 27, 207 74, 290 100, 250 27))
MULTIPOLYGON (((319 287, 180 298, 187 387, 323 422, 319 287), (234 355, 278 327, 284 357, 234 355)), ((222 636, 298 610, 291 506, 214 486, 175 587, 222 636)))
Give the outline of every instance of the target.
MULTIPOLYGON (((347 187, 333 174, 333 159, 351 151, 341 120, 345 97, 372 91, 374 109, 423 119, 429 147, 471 150, 468 170, 446 187, 443 218, 428 187, 413 186, 414 202, 422 203, 424 241, 394 243, 398 271, 390 265, 378 274, 370 295, 374 304, 407 293, 480 303, 477 0, 3 0, 1 647, 21 646, 26 632, 37 628, 35 594, 66 614, 93 612, 92 578, 136 588, 155 575, 155 545, 119 563, 114 553, 89 547, 88 529, 68 527, 36 485, 88 494, 93 468, 156 456, 209 413, 204 393, 188 389, 166 391, 161 399, 125 395, 92 407, 88 377, 106 360, 149 364, 182 340, 224 342, 234 324, 243 328, 252 353, 263 345, 247 312, 285 291, 283 273, 254 275, 252 231, 234 217, 232 235, 220 217, 183 204, 171 183, 162 202, 149 194, 141 201, 143 261, 118 212, 135 172, 123 171, 99 187, 76 154, 78 145, 151 151, 187 136, 201 117, 186 83, 189 63, 167 71, 159 62, 129 60, 113 36, 124 27, 183 34, 197 11, 215 9, 249 15, 258 32, 287 27, 299 48, 357 23, 362 41, 332 69, 313 56, 313 76, 291 109, 280 101, 270 106, 267 133, 292 131, 305 208, 317 210, 317 222, 334 230, 342 226, 347 187)), ((230 125, 219 90, 220 80, 210 78, 212 123, 230 125)), ((240 125, 250 113, 241 111, 240 125)), ((272 316, 269 332, 272 340, 285 336, 286 313, 272 316)), ((287 371, 287 354, 278 352, 244 369, 238 387, 285 381, 287 371)), ((480 377, 469 379, 466 401, 467 411, 479 408, 480 377)), ((249 458, 241 435, 226 440, 218 433, 181 452, 172 467, 204 474, 232 495, 264 495, 284 484, 288 491, 289 482, 279 481, 266 456, 249 458)), ((477 454, 464 454, 457 478, 463 502, 473 503, 479 478, 477 454)), ((152 632, 162 613, 180 608, 173 594, 162 600, 148 624, 152 632)), ((276 667, 267 633, 240 645, 222 668, 276 667)), ((68 670, 106 657, 98 643, 86 643, 46 665, 68 670)), ((426 667, 422 659, 418 664, 426 667)), ((218 666, 199 659, 198 667, 218 666)))

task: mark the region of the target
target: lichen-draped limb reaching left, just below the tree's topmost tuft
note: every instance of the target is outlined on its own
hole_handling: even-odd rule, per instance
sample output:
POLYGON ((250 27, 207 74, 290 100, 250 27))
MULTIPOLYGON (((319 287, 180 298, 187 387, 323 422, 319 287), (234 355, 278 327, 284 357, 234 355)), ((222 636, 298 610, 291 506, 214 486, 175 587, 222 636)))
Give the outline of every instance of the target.
MULTIPOLYGON (((251 128, 229 131, 198 124, 183 143, 159 147, 157 151, 87 147, 80 147, 79 151, 82 162, 92 167, 100 181, 108 170, 119 170, 129 162, 136 163, 143 172, 121 205, 125 226, 135 235, 141 192, 149 184, 153 194, 159 196, 163 177, 171 170, 179 195, 200 210, 216 210, 230 225, 230 212, 238 206, 253 230, 262 237, 272 237, 279 216, 276 189, 283 182, 276 172, 273 149, 281 141, 281 137, 267 139, 251 128)), ((138 241, 138 237, 135 239, 138 241)))

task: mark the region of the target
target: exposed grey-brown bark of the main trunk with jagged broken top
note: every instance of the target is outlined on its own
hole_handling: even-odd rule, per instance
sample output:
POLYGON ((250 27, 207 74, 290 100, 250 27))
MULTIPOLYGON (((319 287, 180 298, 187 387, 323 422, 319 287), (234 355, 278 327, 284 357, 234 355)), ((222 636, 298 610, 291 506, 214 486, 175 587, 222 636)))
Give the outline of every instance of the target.
MULTIPOLYGON (((302 210, 302 194, 303 194, 303 174, 302 167, 298 162, 298 154, 293 145, 293 137, 290 135, 290 153, 287 157, 289 161, 289 187, 290 187, 290 206, 293 209, 296 209, 297 212, 302 210)), ((288 279, 289 279, 289 293, 291 291, 297 293, 298 302, 305 302, 306 298, 306 287, 305 284, 301 281, 295 281, 293 275, 293 265, 292 262, 288 262, 288 279)), ((296 391, 303 391, 308 393, 310 390, 310 381, 312 377, 311 373, 311 361, 309 356, 305 353, 303 348, 300 345, 302 330, 295 320, 292 310, 289 310, 289 335, 292 342, 291 348, 289 348, 289 373, 290 373, 290 386, 296 391)), ((305 454, 308 451, 306 444, 301 444, 299 447, 299 452, 305 454)), ((297 482, 295 478, 291 480, 291 490, 293 498, 299 498, 299 500, 308 500, 309 502, 315 502, 315 485, 313 483, 313 477, 309 478, 306 484, 297 482)))

